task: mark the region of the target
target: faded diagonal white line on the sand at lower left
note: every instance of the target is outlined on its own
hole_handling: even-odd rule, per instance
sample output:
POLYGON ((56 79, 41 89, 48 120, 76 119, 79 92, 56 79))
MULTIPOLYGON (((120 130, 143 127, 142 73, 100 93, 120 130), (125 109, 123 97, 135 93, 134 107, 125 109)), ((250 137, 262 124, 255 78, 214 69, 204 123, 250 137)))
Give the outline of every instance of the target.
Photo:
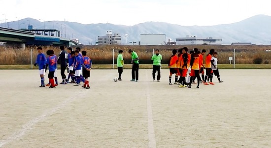
MULTIPOLYGON (((85 92, 85 91, 82 91, 82 92, 85 92)), ((85 94, 85 93, 83 93, 85 94)), ((82 93, 81 93, 82 95, 82 93)), ((33 129, 33 126, 38 123, 38 122, 41 122, 42 120, 44 120, 47 116, 50 116, 52 114, 54 114, 55 112, 61 110, 62 108, 66 107, 69 103, 71 103, 72 101, 74 101, 75 99, 78 99, 78 96, 76 97, 72 97, 72 98, 69 98, 67 100, 65 100, 62 104, 60 104, 59 106, 51 109, 50 111, 45 111, 43 112, 42 115, 32 119, 31 121, 29 121, 28 123, 24 124, 21 128, 20 131, 16 132, 16 133, 13 133, 11 136, 9 136, 9 138, 5 139, 5 140, 1 140, 0 141, 0 147, 8 144, 8 143, 11 143, 12 141, 16 140, 16 139, 19 139, 21 137, 23 137, 27 132, 31 131, 33 129)))

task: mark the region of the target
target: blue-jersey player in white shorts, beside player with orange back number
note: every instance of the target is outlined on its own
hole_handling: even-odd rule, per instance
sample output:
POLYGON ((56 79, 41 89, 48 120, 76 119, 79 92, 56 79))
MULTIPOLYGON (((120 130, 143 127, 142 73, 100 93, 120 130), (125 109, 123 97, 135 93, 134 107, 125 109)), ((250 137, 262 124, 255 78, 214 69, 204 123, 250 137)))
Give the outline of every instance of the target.
POLYGON ((80 76, 82 75, 82 66, 84 67, 84 69, 86 69, 82 61, 83 59, 81 58, 81 56, 79 56, 79 51, 75 50, 75 64, 73 69, 75 70, 76 84, 74 86, 79 86, 81 80, 85 82, 83 77, 80 78, 80 76))

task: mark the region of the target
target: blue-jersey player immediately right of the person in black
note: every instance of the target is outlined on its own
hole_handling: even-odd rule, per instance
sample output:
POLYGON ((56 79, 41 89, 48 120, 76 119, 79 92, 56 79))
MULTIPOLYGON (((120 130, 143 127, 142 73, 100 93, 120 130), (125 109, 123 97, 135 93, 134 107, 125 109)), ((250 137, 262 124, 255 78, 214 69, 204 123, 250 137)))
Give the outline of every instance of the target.
POLYGON ((69 73, 68 73, 68 80, 69 78, 71 77, 71 81, 70 83, 75 83, 75 71, 73 70, 73 67, 74 67, 74 55, 75 52, 72 51, 72 48, 68 47, 68 70, 69 70, 69 73))

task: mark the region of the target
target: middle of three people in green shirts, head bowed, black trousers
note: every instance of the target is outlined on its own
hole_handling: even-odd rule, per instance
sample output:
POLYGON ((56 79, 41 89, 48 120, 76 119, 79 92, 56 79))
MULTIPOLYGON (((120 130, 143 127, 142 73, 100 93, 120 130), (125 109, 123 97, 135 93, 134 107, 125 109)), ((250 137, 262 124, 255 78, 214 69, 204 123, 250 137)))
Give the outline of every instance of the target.
POLYGON ((132 49, 129 49, 129 54, 132 56, 131 63, 133 64, 132 67, 132 80, 131 81, 138 81, 138 69, 139 69, 139 62, 138 62, 138 56, 135 51, 132 51, 132 49))

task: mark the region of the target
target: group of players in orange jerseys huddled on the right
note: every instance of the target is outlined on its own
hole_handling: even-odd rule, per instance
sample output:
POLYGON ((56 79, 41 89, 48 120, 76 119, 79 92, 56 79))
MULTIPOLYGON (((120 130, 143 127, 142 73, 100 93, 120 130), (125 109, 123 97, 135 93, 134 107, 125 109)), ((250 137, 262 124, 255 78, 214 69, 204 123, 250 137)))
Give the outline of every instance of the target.
POLYGON ((175 74, 174 84, 178 84, 179 87, 191 88, 191 85, 192 83, 195 83, 196 78, 196 88, 200 88, 200 83, 203 83, 204 85, 214 85, 212 82, 213 74, 217 76, 219 82, 223 82, 220 79, 217 68, 217 52, 215 52, 214 49, 210 49, 209 53, 206 55, 204 66, 203 56, 205 53, 206 50, 203 49, 201 52, 198 48, 194 48, 190 53, 188 53, 187 47, 181 48, 178 51, 173 49, 173 55, 169 58, 169 85, 172 85, 172 74, 175 74), (205 76, 204 68, 206 73, 205 76), (202 78, 200 74, 202 74, 202 78))

